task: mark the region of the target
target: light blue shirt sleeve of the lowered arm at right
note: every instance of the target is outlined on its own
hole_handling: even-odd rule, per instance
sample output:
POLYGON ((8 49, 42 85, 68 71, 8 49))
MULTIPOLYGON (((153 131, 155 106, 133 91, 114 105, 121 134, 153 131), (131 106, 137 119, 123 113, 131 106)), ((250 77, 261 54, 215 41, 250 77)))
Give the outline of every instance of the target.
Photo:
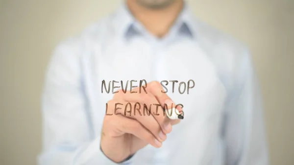
POLYGON ((225 116, 226 165, 268 165, 261 91, 247 53, 225 116))

